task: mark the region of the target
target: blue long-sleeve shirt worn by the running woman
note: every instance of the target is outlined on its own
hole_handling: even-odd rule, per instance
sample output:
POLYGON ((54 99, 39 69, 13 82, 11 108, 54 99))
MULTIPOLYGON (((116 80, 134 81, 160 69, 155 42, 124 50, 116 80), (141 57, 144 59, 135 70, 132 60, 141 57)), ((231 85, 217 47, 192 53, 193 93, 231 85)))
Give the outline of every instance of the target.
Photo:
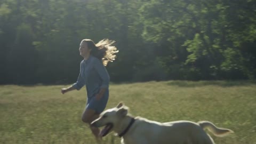
POLYGON ((101 88, 108 89, 109 81, 108 72, 105 66, 103 66, 102 61, 90 55, 87 60, 81 61, 77 82, 72 86, 76 90, 80 90, 86 85, 87 97, 91 98, 93 95, 97 94, 101 88))

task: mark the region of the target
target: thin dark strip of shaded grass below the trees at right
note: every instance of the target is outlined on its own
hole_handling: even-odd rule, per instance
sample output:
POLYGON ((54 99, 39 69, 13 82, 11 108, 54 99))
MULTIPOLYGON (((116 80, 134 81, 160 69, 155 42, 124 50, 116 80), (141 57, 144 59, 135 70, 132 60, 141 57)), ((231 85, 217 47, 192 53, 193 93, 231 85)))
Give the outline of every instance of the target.
POLYGON ((180 87, 198 87, 208 85, 231 87, 256 85, 256 81, 171 81, 166 84, 180 87))

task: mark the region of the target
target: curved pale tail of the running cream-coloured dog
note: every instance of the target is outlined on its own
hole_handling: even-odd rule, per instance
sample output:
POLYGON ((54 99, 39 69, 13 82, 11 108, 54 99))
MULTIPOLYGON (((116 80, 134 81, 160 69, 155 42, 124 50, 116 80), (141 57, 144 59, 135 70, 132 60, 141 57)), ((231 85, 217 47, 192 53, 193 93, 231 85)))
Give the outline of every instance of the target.
POLYGON ((202 129, 207 129, 212 132, 216 137, 225 137, 230 133, 234 133, 232 130, 224 129, 215 126, 213 123, 208 121, 200 121, 198 124, 202 127, 202 129))

